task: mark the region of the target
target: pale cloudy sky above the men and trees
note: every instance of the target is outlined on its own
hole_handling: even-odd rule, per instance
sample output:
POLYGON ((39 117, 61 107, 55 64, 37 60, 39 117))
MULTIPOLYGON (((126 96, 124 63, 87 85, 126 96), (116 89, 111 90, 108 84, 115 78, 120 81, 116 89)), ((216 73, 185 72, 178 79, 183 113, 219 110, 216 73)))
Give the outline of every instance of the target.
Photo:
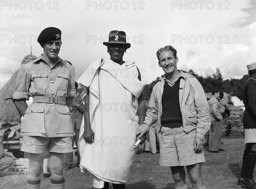
POLYGON ((256 1, 7 1, 1 0, 0 69, 2 87, 27 54, 39 56, 40 32, 62 31, 59 56, 73 63, 77 80, 94 60, 108 58, 111 30, 127 34, 125 61, 136 62, 150 83, 163 74, 156 51, 177 49, 178 68, 224 79, 240 79, 256 61, 256 1))

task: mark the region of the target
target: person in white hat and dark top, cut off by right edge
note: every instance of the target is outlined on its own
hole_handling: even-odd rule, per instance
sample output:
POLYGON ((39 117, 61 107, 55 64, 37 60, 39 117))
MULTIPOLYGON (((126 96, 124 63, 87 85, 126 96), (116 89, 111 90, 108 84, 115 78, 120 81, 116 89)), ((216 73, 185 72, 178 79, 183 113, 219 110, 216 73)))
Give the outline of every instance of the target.
POLYGON ((256 189, 253 181, 253 170, 256 162, 256 62, 247 65, 250 78, 244 83, 243 102, 244 102, 244 133, 245 150, 243 164, 238 185, 243 188, 256 189))

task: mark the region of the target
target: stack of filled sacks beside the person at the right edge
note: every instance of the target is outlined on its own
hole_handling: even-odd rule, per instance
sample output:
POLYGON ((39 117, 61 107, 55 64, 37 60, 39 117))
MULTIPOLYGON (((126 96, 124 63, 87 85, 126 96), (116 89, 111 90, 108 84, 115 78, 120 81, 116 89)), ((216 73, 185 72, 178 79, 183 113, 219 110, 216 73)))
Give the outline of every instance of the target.
POLYGON ((232 107, 230 116, 227 118, 227 125, 230 128, 230 135, 244 135, 243 109, 241 107, 232 107))

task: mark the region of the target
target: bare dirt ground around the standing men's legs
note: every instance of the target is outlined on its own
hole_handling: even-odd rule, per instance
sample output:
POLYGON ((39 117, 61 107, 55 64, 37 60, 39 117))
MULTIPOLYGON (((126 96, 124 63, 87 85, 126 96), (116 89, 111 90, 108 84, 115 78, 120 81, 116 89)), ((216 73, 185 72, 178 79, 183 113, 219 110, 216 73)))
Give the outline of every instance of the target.
MULTIPOLYGON (((244 138, 223 138, 225 152, 209 153, 204 147, 206 163, 202 164, 202 175, 207 189, 237 189, 244 152, 244 138)), ((169 167, 160 166, 159 154, 145 153, 140 146, 140 154, 136 155, 129 175, 126 189, 174 189, 169 167)), ((93 189, 90 174, 80 173, 79 168, 73 168, 65 174, 66 189, 93 189)), ((256 180, 256 172, 253 174, 256 180)), ((192 189, 186 177, 189 189, 192 189)), ((49 178, 41 180, 41 188, 50 189, 49 178)), ((26 175, 0 174, 0 189, 26 189, 26 175)), ((110 186, 112 189, 112 186, 110 186)))

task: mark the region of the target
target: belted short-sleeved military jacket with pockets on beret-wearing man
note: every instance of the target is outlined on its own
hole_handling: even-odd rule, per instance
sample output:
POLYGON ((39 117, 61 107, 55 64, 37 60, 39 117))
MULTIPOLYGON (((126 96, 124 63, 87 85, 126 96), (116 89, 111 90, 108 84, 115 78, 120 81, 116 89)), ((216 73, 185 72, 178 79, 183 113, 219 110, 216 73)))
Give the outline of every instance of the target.
POLYGON ((13 99, 29 99, 33 103, 26 110, 21 124, 24 136, 68 137, 74 129, 66 98, 76 97, 73 66, 58 57, 50 66, 39 56, 20 66, 13 99))

